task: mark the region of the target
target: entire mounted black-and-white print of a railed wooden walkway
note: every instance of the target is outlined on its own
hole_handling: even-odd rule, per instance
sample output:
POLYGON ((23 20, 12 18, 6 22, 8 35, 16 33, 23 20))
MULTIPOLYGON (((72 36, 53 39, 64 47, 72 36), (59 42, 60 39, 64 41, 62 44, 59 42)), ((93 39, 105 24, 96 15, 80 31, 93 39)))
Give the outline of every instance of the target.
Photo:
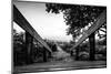
POLYGON ((107 67, 107 6, 12 0, 12 73, 107 67))

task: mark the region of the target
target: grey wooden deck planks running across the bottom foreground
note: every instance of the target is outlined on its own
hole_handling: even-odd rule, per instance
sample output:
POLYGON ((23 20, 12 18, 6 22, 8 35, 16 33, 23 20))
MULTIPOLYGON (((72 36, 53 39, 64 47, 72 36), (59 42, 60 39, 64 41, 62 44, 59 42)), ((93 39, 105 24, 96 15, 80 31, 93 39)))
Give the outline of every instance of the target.
POLYGON ((17 66, 14 72, 42 72, 42 71, 59 71, 59 70, 80 70, 80 68, 100 68, 107 67, 105 61, 73 61, 73 62, 49 62, 49 63, 36 63, 27 66, 17 66))

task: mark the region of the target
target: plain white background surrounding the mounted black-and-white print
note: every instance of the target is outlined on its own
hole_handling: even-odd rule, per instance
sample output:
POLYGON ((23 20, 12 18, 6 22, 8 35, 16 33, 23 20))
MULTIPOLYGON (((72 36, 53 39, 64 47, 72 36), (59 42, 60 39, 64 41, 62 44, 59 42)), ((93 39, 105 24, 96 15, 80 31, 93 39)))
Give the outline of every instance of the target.
MULTIPOLYGON (((29 0, 22 0, 29 1, 29 0)), ((75 4, 107 6, 108 8, 108 67, 75 71, 43 72, 44 74, 110 74, 111 73, 111 0, 30 0, 75 4)), ((0 1, 0 74, 11 74, 11 0, 0 1)), ((43 74, 42 73, 42 74, 43 74)), ((30 73, 37 74, 37 73, 30 73)), ((39 74, 39 73, 38 73, 39 74)))

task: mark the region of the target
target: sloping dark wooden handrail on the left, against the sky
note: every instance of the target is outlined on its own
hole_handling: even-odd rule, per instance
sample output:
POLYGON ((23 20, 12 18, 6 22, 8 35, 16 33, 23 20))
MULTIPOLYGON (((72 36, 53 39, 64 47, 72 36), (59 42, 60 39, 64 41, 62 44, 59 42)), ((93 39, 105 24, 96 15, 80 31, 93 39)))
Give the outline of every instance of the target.
POLYGON ((20 25, 24 31, 29 32, 38 42, 40 42, 48 51, 52 52, 49 45, 38 34, 38 32, 30 25, 22 13, 13 6, 13 21, 20 25))

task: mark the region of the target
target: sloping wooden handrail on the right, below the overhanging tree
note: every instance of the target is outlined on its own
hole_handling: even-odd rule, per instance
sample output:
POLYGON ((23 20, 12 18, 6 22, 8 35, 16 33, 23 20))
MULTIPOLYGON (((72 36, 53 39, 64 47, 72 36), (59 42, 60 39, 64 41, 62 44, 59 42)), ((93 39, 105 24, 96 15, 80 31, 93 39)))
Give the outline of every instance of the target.
POLYGON ((107 11, 104 10, 98 18, 97 21, 82 34, 80 40, 71 47, 74 50, 80 43, 82 43, 91 33, 95 32, 107 21, 107 11))

